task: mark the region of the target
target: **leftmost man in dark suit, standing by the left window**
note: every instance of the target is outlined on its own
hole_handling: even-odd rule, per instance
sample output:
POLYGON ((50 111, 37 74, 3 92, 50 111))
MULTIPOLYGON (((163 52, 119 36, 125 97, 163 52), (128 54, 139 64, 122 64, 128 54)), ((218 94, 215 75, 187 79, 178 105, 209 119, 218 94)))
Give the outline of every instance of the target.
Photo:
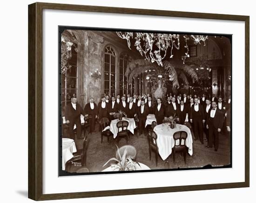
POLYGON ((81 114, 84 115, 83 109, 80 104, 77 103, 76 97, 71 98, 71 103, 67 104, 65 109, 65 119, 69 124, 69 137, 74 140, 74 125, 76 126, 77 138, 81 139, 82 127, 81 127, 81 114))

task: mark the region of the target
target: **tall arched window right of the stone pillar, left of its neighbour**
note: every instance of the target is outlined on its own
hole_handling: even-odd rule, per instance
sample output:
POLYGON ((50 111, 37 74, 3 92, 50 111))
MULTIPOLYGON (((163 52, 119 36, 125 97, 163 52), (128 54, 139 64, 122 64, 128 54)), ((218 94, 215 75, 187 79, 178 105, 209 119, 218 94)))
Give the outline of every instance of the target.
POLYGON ((111 46, 105 48, 104 54, 104 93, 115 94, 115 51, 111 46))

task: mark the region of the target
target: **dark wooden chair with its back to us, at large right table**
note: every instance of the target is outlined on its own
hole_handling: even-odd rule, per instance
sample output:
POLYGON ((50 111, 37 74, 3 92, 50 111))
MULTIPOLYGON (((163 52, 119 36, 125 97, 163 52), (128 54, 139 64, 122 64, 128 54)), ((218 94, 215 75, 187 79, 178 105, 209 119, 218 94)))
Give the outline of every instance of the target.
POLYGON ((188 153, 188 147, 186 146, 186 140, 188 133, 186 131, 177 131, 173 134, 175 145, 172 148, 173 162, 175 163, 175 153, 181 152, 183 154, 184 162, 186 164, 186 157, 188 153))

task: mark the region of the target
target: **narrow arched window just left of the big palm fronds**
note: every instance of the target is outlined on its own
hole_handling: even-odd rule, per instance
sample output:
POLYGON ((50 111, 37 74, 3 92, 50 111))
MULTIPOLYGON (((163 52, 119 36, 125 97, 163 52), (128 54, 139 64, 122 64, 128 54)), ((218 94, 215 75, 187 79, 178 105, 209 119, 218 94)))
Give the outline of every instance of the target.
POLYGON ((120 61, 119 61, 119 73, 120 73, 120 80, 119 80, 119 89, 120 95, 127 94, 128 92, 128 81, 127 77, 125 76, 125 72, 127 69, 127 61, 128 61, 128 55, 127 54, 121 54, 120 61))

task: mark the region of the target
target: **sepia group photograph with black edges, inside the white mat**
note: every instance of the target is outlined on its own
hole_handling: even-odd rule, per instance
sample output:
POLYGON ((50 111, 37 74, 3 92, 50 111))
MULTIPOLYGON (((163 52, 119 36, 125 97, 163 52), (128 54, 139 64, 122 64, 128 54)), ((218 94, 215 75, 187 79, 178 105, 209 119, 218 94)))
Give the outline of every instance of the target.
POLYGON ((232 167, 232 35, 59 26, 59 176, 232 167))

